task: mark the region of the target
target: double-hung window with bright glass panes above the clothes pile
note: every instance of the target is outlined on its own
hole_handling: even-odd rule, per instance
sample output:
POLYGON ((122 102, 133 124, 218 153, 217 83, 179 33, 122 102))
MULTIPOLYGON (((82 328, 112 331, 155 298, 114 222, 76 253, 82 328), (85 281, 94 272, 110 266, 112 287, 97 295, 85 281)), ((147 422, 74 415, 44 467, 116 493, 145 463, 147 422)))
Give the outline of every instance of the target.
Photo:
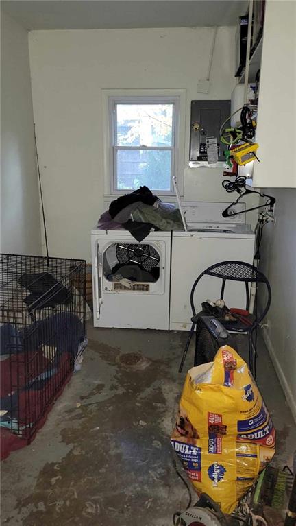
POLYGON ((112 193, 143 184, 171 193, 179 97, 110 97, 109 102, 112 193))

